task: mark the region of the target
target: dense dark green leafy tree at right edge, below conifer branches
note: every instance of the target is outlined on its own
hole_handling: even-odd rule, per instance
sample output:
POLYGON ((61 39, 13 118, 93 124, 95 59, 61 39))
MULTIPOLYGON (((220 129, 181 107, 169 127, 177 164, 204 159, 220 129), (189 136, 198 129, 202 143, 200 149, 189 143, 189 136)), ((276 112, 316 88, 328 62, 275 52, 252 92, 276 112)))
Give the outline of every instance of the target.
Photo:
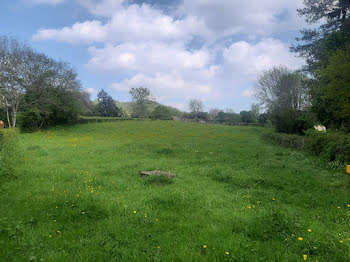
POLYGON ((350 132, 350 45, 335 52, 317 74, 313 110, 318 119, 327 127, 350 132))

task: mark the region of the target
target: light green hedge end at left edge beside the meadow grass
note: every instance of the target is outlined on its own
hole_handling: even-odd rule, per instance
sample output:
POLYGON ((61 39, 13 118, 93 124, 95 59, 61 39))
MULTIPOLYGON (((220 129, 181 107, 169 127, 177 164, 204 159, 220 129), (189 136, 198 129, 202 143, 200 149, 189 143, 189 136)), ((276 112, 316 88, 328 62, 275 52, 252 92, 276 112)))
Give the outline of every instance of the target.
POLYGON ((0 183, 17 178, 23 164, 23 155, 16 129, 0 130, 0 183))

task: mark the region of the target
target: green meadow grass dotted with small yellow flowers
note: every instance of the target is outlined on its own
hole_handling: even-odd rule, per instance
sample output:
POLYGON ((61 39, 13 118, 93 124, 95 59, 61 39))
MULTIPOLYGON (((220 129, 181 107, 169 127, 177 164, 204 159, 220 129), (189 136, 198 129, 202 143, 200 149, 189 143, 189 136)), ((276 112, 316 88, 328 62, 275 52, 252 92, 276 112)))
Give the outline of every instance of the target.
POLYGON ((24 170, 0 186, 0 260, 349 261, 345 172, 265 132, 125 121, 22 134, 24 170), (139 176, 154 169, 177 177, 139 176))

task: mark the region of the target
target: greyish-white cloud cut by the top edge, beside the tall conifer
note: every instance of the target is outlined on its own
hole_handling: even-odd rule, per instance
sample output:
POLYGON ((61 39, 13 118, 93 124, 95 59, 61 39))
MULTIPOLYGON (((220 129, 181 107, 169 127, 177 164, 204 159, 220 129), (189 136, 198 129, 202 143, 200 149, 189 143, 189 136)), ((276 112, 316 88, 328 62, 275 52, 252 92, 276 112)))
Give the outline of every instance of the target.
POLYGON ((184 0, 180 12, 205 20, 216 34, 269 35, 300 29, 297 9, 303 0, 184 0))

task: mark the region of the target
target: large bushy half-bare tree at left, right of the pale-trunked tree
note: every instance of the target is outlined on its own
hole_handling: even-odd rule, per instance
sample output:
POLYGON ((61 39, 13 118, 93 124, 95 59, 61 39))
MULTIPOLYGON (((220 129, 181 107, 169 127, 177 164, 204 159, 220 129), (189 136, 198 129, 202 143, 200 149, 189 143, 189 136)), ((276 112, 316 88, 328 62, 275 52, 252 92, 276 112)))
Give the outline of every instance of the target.
POLYGON ((82 112, 82 90, 69 64, 40 53, 31 57, 30 82, 21 109, 26 129, 74 123, 82 112))

